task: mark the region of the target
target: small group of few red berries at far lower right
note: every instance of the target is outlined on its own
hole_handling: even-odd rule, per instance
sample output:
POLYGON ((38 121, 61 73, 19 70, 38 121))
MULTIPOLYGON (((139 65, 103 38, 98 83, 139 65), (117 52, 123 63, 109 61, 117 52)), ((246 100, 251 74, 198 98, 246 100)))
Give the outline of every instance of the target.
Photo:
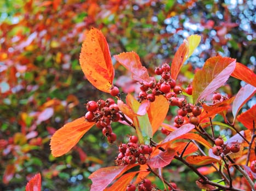
POLYGON ((237 153, 240 151, 240 144, 235 143, 232 144, 231 146, 228 146, 224 144, 224 140, 219 136, 217 139, 215 139, 215 146, 212 148, 213 154, 216 156, 220 156, 222 153, 223 154, 228 154, 230 152, 232 153, 237 153))

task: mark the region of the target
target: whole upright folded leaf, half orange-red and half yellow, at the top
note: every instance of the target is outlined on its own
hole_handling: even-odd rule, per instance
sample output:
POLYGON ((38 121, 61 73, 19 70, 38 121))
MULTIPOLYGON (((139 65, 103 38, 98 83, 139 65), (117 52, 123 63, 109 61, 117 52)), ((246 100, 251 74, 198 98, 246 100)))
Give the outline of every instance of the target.
POLYGON ((179 49, 174 55, 173 62, 170 68, 170 75, 172 79, 176 80, 179 74, 180 68, 184 64, 187 58, 189 58, 198 44, 200 43, 201 37, 199 35, 191 35, 183 44, 179 46, 179 49))

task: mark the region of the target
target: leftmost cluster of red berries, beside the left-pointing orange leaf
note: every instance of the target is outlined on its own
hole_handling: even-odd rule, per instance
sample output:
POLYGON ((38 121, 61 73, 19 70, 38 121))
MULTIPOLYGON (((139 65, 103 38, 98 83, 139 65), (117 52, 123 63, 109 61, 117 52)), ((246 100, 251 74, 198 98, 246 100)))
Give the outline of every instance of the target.
POLYGON ((112 98, 99 99, 97 102, 89 101, 86 104, 85 118, 88 122, 96 122, 96 127, 102 129, 103 135, 109 142, 116 140, 116 134, 112 132, 111 122, 120 120, 119 108, 112 98))

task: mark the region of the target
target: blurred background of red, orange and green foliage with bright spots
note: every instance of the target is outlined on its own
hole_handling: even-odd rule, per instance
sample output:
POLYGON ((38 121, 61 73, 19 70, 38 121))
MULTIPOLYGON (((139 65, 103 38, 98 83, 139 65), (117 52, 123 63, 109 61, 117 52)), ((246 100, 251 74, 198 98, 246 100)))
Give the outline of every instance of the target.
MULTIPOLYGON (((55 130, 83 116, 88 100, 108 97, 90 85, 79 67, 81 44, 91 27, 104 33, 112 56, 135 51, 151 75, 154 67, 172 61, 184 39, 200 34, 201 44, 179 76, 186 87, 192 69, 218 54, 255 71, 255 7, 253 0, 0 1, 0 190, 24 190, 37 172, 45 191, 89 190, 88 176, 114 165, 118 146, 110 145, 98 128, 65 156, 50 154, 55 130)), ((129 73, 113 63, 123 97, 138 92, 129 73)), ((221 91, 232 96, 242 85, 230 79, 221 91)), ((113 124, 113 130, 117 142, 134 133, 121 124, 113 124)), ((158 133, 155 139, 162 137, 158 133)), ((198 190, 197 177, 172 164, 164 176, 182 190, 198 190)), ((155 184, 162 188, 161 181, 155 184)))

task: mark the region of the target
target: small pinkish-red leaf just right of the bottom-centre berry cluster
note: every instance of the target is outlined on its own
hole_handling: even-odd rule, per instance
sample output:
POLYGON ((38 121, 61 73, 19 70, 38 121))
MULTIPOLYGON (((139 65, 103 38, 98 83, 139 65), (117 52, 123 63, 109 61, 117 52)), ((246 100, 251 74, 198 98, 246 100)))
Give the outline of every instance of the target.
POLYGON ((166 151, 160 152, 156 156, 153 156, 149 160, 147 160, 147 164, 152 168, 161 168, 164 167, 172 161, 175 156, 175 150, 172 148, 167 148, 166 151))

